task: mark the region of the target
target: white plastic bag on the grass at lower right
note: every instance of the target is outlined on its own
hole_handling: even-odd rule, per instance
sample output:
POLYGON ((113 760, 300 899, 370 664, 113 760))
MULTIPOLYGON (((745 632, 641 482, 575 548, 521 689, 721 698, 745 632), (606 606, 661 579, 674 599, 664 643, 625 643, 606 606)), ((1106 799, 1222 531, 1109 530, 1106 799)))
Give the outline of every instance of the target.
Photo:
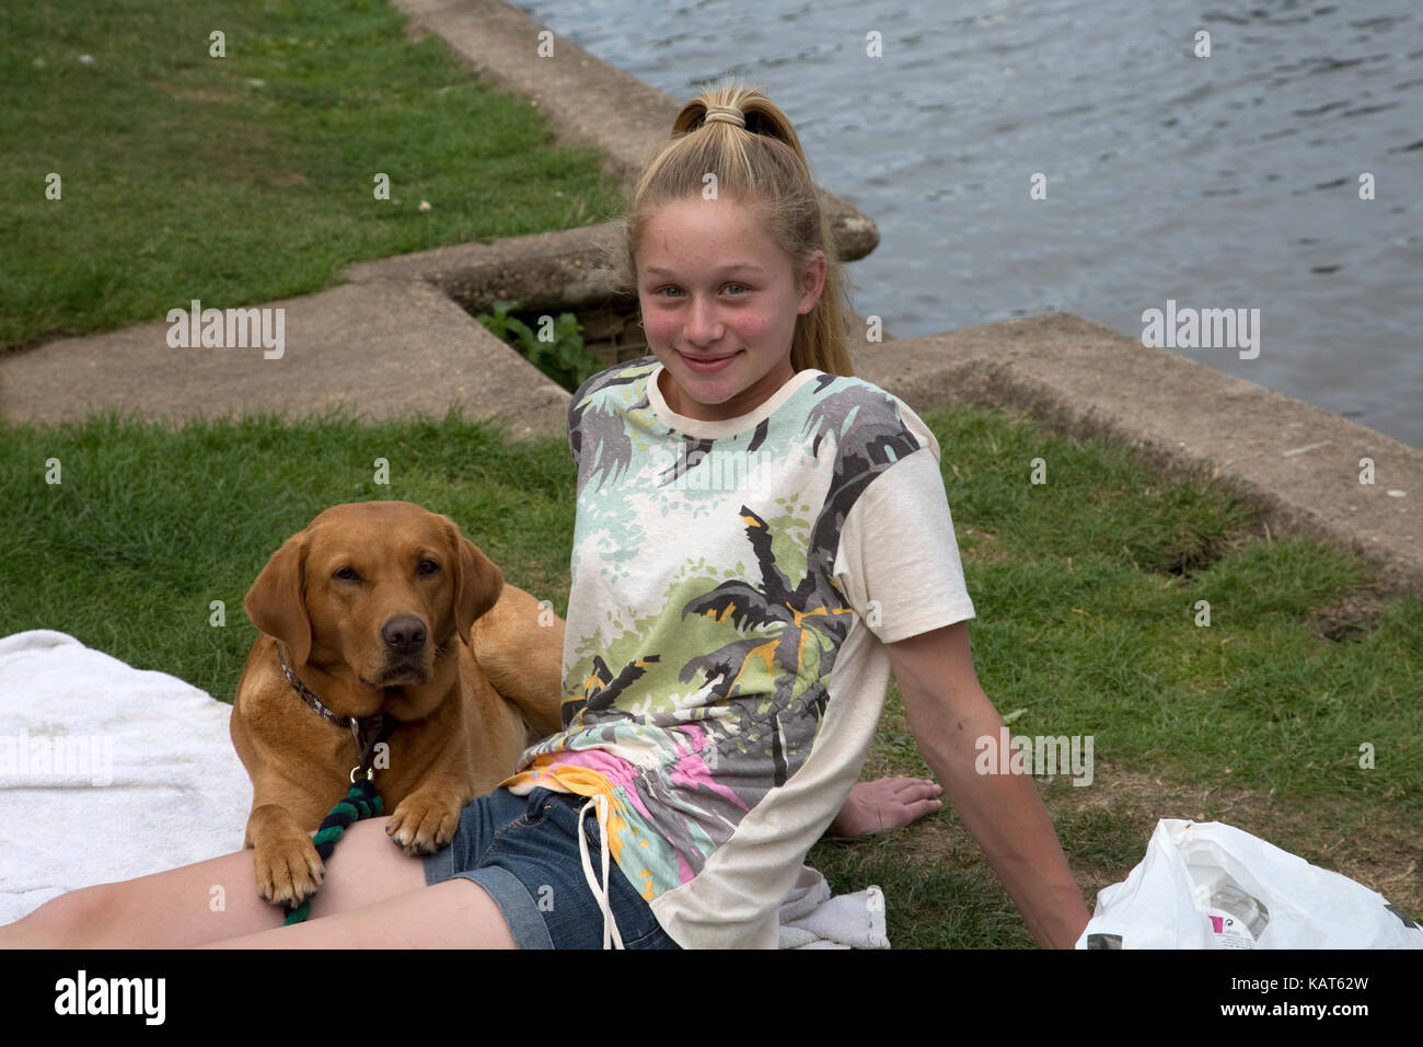
POLYGON ((1423 949, 1383 895, 1222 822, 1157 822, 1077 949, 1423 949))

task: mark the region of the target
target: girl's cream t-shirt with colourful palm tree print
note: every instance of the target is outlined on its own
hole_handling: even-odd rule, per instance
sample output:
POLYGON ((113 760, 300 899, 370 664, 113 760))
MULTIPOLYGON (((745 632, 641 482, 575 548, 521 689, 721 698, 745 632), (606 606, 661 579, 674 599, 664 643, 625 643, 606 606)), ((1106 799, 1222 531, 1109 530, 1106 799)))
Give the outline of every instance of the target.
POLYGON ((868 755, 884 645, 973 604, 908 405, 801 370, 703 422, 670 410, 662 372, 622 363, 569 405, 564 729, 505 786, 606 796, 612 858, 679 944, 774 947, 868 755))

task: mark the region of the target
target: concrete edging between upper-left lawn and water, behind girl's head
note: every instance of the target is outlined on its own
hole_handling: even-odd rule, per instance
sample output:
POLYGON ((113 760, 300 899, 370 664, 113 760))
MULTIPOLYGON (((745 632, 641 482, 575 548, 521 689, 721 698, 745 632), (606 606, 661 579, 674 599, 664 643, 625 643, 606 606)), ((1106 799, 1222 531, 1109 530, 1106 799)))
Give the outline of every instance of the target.
MULTIPOLYGON (((393 0, 411 31, 438 34, 475 73, 529 98, 554 124, 559 141, 599 150, 605 170, 630 185, 666 140, 683 100, 672 98, 501 0, 393 0), (554 54, 538 56, 539 34, 554 54)), ((820 191, 844 261, 864 258, 879 242, 874 219, 840 197, 820 191)))

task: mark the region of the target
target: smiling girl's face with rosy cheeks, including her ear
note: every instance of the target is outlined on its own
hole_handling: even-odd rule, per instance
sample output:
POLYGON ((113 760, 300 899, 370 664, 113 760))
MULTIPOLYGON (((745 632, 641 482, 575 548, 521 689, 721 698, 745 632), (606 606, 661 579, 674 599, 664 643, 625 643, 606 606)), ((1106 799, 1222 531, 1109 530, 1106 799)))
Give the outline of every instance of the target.
POLYGON ((797 279, 753 208, 700 197, 665 205, 638 245, 638 298, 667 406, 721 422, 768 400, 794 375, 795 318, 824 283, 824 252, 797 279))

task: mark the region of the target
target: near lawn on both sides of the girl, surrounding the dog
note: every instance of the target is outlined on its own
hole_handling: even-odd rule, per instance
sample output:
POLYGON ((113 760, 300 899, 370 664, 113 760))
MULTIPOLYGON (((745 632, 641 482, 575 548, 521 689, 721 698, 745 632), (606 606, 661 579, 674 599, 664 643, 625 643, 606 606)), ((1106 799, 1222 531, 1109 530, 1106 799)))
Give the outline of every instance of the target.
MULTIPOLYGON (((1155 816, 1229 813, 1212 805, 1239 795, 1261 805, 1225 821, 1328 868, 1349 870, 1348 855, 1386 839, 1417 856, 1423 604, 1376 600, 1359 631, 1326 640, 1318 613, 1359 597, 1368 570, 1308 541, 1266 541, 1237 493, 996 412, 924 417, 943 447, 985 691, 1003 712, 1025 709, 1015 734, 1094 736, 1094 788, 1043 786, 1083 886, 1123 879, 1155 816), (1027 481, 1035 457, 1047 484, 1027 481), (1211 604, 1208 627, 1194 624, 1197 600, 1211 604), (1376 746, 1373 769, 1359 768, 1360 742, 1376 746), (1123 802, 1104 792, 1133 769, 1165 785, 1123 802), (1190 796, 1202 788, 1214 793, 1190 796)), ((243 593, 334 503, 448 513, 511 581, 566 610, 576 477, 556 437, 509 444, 457 416, 176 430, 107 417, 7 430, 0 476, 0 635, 70 632, 226 701, 256 637, 243 593), (373 483, 377 457, 390 486, 373 483), (63 483, 44 481, 48 459, 63 483), (225 627, 209 624, 213 600, 225 627)), ((892 688, 867 772, 926 773, 892 688)), ((898 947, 1032 944, 949 809, 821 843, 811 860, 840 890, 878 882, 898 947)), ((1386 893, 1417 915, 1416 886, 1386 893)))

